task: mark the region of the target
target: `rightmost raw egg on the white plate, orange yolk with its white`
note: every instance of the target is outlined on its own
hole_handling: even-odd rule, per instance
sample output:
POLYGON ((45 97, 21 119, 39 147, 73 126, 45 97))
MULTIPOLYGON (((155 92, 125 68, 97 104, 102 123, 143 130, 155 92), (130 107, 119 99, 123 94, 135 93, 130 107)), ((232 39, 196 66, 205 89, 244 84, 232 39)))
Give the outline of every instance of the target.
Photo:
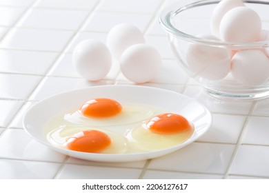
POLYGON ((183 143, 192 136, 194 127, 179 114, 165 113, 152 117, 145 124, 130 130, 126 137, 132 148, 155 151, 183 143))

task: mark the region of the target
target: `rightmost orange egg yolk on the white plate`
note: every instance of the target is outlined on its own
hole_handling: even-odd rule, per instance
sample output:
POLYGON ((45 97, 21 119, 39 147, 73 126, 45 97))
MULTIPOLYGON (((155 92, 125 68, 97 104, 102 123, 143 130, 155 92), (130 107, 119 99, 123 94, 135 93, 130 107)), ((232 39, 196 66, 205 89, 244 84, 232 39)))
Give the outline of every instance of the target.
POLYGON ((146 123, 146 127, 156 134, 176 134, 192 128, 186 118, 172 113, 154 116, 146 123))

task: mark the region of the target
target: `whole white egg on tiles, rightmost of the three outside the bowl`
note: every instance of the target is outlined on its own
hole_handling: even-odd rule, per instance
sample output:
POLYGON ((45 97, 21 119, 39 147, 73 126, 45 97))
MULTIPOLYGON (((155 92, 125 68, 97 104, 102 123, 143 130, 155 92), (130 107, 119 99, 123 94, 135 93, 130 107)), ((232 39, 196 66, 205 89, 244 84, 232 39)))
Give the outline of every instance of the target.
POLYGON ((161 55, 150 45, 139 43, 127 48, 120 60, 121 72, 135 83, 146 83, 156 77, 161 67, 161 55))

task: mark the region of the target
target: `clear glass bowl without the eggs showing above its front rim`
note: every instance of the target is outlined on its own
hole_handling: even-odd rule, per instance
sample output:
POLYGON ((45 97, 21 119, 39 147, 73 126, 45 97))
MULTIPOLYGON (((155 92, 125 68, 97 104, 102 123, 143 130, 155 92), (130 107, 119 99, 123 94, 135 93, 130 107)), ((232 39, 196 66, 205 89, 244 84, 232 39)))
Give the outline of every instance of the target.
POLYGON ((260 39, 251 42, 221 41, 212 35, 210 19, 218 3, 177 1, 161 12, 160 23, 168 32, 172 52, 190 77, 212 96, 240 100, 268 97, 268 1, 243 1, 259 15, 263 29, 260 39))

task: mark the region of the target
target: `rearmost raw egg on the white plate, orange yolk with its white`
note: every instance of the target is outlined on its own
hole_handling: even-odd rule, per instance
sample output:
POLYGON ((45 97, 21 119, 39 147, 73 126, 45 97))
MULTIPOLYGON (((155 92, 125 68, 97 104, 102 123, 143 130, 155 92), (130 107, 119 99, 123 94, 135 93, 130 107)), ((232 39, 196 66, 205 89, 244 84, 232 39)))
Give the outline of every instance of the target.
POLYGON ((162 110, 150 105, 125 103, 97 98, 84 103, 79 110, 64 115, 70 123, 92 126, 122 125, 150 119, 162 110))

